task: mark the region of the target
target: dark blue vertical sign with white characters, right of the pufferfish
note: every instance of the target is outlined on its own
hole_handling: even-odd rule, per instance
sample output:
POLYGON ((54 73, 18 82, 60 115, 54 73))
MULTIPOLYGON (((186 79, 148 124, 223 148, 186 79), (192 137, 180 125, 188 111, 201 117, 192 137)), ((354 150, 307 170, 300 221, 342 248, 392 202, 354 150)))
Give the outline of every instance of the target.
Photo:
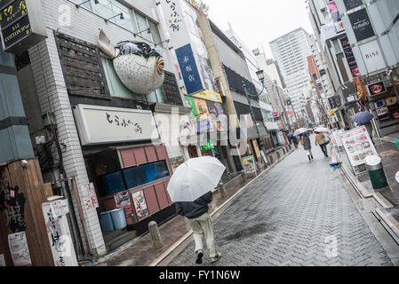
POLYGON ((196 59, 191 49, 191 44, 188 43, 176 50, 176 56, 179 61, 180 72, 183 75, 183 80, 186 85, 188 95, 203 91, 203 83, 196 67, 196 59))

